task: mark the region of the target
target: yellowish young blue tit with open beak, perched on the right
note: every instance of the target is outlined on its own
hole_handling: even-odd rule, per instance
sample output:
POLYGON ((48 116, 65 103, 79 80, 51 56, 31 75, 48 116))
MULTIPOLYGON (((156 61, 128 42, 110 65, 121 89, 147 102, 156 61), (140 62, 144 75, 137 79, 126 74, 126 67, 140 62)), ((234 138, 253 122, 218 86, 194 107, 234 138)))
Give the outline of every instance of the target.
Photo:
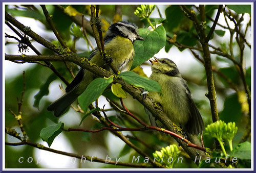
MULTIPOLYGON (((154 57, 155 58, 155 57, 154 57)), ((163 111, 177 126, 186 133, 189 141, 194 143, 191 135, 202 134, 204 122, 191 98, 186 81, 181 77, 176 64, 167 58, 150 60, 152 75, 150 79, 161 86, 161 93, 150 92, 149 97, 161 104, 163 111)), ((146 110, 153 126, 157 126, 155 118, 146 110)))

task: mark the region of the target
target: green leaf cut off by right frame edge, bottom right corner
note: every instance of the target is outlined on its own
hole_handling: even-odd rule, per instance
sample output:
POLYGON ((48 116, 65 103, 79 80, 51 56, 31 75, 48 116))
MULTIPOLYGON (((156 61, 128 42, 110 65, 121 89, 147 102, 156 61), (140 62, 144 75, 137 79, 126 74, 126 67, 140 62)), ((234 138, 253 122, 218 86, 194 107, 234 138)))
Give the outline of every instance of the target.
POLYGON ((246 141, 238 144, 230 153, 230 157, 237 157, 239 159, 251 159, 251 143, 246 141))

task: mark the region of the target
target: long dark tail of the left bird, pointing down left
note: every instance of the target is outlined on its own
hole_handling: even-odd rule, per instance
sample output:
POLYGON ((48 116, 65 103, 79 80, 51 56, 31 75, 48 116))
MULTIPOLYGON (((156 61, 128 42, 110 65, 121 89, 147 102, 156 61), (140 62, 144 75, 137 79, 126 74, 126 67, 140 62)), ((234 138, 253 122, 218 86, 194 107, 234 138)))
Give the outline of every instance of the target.
POLYGON ((75 93, 75 90, 61 96, 58 100, 50 104, 47 108, 48 111, 53 111, 54 116, 59 117, 66 109, 77 99, 79 94, 75 93))

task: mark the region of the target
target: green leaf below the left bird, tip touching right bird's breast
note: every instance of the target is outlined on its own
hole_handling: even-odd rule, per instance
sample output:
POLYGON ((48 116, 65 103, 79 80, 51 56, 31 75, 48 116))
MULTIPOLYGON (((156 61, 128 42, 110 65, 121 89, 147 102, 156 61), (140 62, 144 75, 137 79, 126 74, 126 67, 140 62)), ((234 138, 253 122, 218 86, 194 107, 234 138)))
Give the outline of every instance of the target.
POLYGON ((124 79, 124 81, 128 82, 129 84, 135 85, 137 87, 145 88, 147 91, 161 91, 161 87, 158 82, 153 81, 149 78, 142 77, 137 75, 137 73, 133 71, 124 71, 121 72, 118 77, 124 79))

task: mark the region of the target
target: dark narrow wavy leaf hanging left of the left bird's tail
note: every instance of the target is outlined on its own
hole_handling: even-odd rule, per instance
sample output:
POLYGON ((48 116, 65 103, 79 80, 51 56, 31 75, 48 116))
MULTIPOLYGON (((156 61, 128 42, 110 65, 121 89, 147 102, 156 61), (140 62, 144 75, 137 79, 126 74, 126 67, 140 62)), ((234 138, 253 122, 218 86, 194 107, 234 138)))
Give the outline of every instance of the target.
POLYGON ((41 98, 43 96, 49 94, 49 85, 55 79, 57 79, 57 76, 55 75, 55 73, 52 73, 52 75, 49 76, 49 78, 46 80, 46 82, 40 86, 39 92, 34 96, 35 102, 33 104, 33 107, 39 109, 39 102, 40 102, 41 98))

